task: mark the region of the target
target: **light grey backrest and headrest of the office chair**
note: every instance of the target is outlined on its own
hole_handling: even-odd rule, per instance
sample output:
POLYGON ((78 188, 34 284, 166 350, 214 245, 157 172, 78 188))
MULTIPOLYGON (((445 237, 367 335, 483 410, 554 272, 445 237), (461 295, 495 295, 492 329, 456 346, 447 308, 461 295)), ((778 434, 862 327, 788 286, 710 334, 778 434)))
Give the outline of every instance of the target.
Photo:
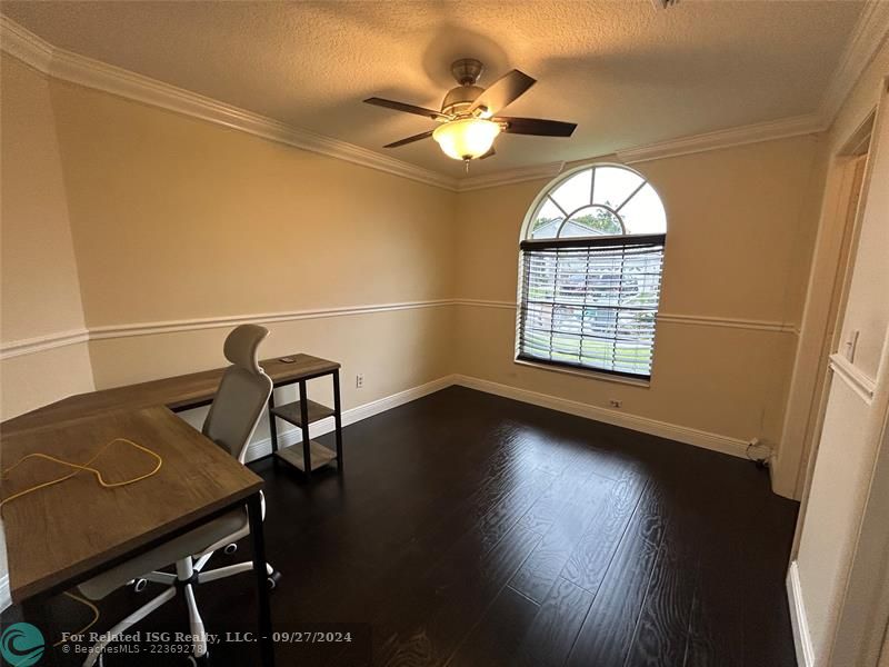
POLYGON ((226 369, 201 432, 243 462, 247 446, 266 409, 272 381, 259 365, 257 350, 269 330, 241 325, 226 338, 226 369))

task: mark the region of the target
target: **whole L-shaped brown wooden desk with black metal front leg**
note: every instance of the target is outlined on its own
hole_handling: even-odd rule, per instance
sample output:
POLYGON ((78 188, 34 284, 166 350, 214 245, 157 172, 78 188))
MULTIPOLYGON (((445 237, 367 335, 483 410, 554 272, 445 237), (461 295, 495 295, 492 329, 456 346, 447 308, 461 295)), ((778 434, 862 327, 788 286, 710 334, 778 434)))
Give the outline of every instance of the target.
MULTIPOLYGON (((276 386, 293 381, 302 386, 313 377, 339 374, 340 366, 333 361, 291 356, 296 358, 292 364, 262 361, 276 386)), ((0 452, 7 466, 34 451, 83 461, 118 437, 139 442, 163 458, 157 475, 131 486, 106 489, 92 476, 79 475, 3 506, 13 601, 33 603, 61 593, 247 505, 259 597, 261 664, 273 666, 262 479, 171 412, 211 402, 223 370, 81 394, 0 425, 0 452)), ((97 464, 110 478, 124 479, 143 471, 146 458, 122 445, 97 464)), ((58 467, 48 461, 28 461, 4 481, 3 496, 58 475, 58 467)))

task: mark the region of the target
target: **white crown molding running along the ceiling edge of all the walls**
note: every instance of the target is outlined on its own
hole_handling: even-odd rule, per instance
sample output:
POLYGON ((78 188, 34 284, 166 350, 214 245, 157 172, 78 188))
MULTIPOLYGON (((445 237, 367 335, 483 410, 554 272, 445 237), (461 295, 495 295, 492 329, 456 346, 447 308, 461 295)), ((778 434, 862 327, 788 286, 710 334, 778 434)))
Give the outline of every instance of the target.
MULTIPOLYGON (((632 165, 647 160, 822 132, 833 121, 851 87, 872 60, 877 49, 887 38, 888 31, 889 2, 867 3, 817 112, 649 143, 620 150, 615 155, 619 161, 632 165)), ((477 177, 452 178, 53 47, 2 14, 0 14, 0 49, 56 79, 199 118, 263 139, 346 160, 452 192, 469 192, 551 178, 560 173, 565 167, 565 162, 549 162, 477 177)))

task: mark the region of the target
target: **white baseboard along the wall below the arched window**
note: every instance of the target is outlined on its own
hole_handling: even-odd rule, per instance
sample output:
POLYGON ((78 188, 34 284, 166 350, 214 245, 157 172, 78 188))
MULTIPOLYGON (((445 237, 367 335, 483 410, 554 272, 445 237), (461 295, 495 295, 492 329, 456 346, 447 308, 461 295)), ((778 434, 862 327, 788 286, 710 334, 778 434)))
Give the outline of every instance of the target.
POLYGON ((652 436, 659 436, 670 440, 685 442, 686 445, 695 445, 705 449, 712 449, 722 454, 737 456, 740 458, 747 457, 747 442, 739 438, 731 438, 728 436, 720 436, 719 434, 711 434, 709 431, 698 430, 687 426, 679 426, 676 424, 668 424, 667 421, 658 421, 648 417, 640 417, 638 415, 630 415, 619 410, 610 410, 608 408, 600 408, 567 398, 559 398, 548 394, 539 394, 528 389, 518 389, 508 385, 500 385, 490 380, 482 380, 469 376, 457 375, 453 379, 455 385, 468 387, 470 389, 478 389, 487 394, 496 394, 505 398, 520 400, 522 402, 550 408, 560 412, 568 412, 578 417, 586 417, 595 421, 603 421, 613 426, 629 428, 631 430, 641 431, 652 436))

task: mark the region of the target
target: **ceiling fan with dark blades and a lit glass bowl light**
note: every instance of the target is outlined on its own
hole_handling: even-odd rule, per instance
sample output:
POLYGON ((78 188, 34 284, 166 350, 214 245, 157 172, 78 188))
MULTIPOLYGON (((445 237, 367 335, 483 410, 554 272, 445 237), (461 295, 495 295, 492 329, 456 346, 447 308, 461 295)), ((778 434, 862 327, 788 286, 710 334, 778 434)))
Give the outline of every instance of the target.
POLYGON ((448 91, 440 111, 377 97, 366 99, 368 104, 424 116, 441 123, 433 130, 387 143, 383 148, 398 148, 432 137, 449 158, 468 162, 495 155, 493 140, 500 132, 570 137, 577 128, 577 123, 560 120, 498 116, 537 81, 525 72, 512 70, 488 88, 481 88, 477 83, 483 69, 485 66, 475 58, 456 60, 451 73, 460 84, 448 91))

